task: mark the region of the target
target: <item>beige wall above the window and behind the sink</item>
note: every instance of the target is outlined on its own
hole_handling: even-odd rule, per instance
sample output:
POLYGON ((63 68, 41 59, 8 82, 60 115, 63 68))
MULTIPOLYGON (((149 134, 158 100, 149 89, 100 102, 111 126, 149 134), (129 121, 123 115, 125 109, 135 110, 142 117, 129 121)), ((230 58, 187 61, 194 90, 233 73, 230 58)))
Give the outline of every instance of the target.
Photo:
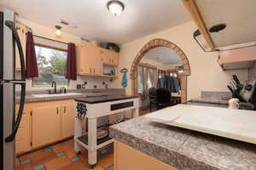
MULTIPOLYGON (((61 42, 74 42, 79 43, 80 37, 73 36, 71 34, 67 34, 64 31, 61 31, 61 38, 55 37, 55 28, 49 28, 47 26, 42 26, 37 23, 31 22, 29 20, 24 20, 21 18, 18 18, 18 20, 25 24, 26 26, 29 26, 32 28, 32 32, 34 35, 41 36, 41 37, 47 37, 50 39, 54 39, 61 42)), ((32 88, 32 79, 26 80, 26 89, 27 90, 40 90, 42 88, 32 88)), ((97 88, 105 88, 104 85, 102 85, 102 82, 106 82, 108 84, 108 88, 115 88, 114 83, 110 82, 109 78, 106 77, 90 77, 90 76, 78 76, 77 81, 70 81, 69 82, 69 88, 76 88, 77 83, 83 83, 87 82, 86 88, 90 89, 93 88, 94 85, 97 86, 97 88)))

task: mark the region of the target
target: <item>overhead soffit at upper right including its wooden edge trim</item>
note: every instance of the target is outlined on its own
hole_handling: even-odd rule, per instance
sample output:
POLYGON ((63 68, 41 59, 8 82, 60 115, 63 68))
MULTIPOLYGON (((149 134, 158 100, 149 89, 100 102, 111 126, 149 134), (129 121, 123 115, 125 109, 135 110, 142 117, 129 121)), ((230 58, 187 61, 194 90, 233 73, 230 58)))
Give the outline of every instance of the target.
POLYGON ((256 1, 183 0, 198 26, 194 37, 205 51, 256 44, 256 1))

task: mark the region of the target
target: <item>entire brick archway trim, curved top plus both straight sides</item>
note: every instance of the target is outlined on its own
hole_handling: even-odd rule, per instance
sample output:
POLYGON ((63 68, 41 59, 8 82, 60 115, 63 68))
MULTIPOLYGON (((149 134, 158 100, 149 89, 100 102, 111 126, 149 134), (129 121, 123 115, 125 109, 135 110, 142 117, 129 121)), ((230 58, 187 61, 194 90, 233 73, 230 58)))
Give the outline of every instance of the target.
POLYGON ((173 42, 166 41, 164 39, 153 39, 146 43, 144 47, 139 51, 136 58, 133 60, 131 64, 130 70, 130 78, 131 78, 131 94, 137 95, 137 65, 140 60, 143 59, 144 54, 148 52, 148 50, 158 47, 166 47, 172 48, 180 57, 183 62, 183 76, 181 77, 181 95, 182 95, 182 103, 187 101, 187 77, 190 75, 190 65, 189 60, 187 59, 186 54, 183 53, 183 50, 173 42))

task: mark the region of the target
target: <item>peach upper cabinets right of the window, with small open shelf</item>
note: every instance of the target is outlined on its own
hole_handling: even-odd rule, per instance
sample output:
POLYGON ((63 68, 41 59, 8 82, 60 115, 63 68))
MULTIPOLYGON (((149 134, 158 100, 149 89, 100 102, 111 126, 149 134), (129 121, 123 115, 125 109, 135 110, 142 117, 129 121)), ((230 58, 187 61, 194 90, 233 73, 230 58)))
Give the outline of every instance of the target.
POLYGON ((113 65, 113 68, 118 66, 118 53, 96 47, 91 43, 81 42, 77 45, 77 57, 79 75, 115 77, 115 75, 104 75, 103 73, 106 72, 104 65, 113 65))

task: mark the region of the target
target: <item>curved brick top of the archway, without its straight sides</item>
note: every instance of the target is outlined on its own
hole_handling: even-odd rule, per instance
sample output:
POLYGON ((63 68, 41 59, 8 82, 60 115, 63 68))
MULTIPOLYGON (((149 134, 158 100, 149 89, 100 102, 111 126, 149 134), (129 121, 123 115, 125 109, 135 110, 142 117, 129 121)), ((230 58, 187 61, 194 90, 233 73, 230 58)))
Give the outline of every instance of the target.
POLYGON ((133 62, 131 64, 131 70, 130 70, 131 79, 136 78, 137 64, 143 58, 143 55, 146 54, 150 49, 158 48, 158 47, 172 48, 179 55, 180 59, 183 62, 183 67, 184 67, 183 75, 190 76, 189 59, 187 58, 186 54, 183 53, 183 50, 173 42, 169 42, 164 39, 157 38, 146 43, 144 47, 139 51, 136 58, 133 59, 133 62))

